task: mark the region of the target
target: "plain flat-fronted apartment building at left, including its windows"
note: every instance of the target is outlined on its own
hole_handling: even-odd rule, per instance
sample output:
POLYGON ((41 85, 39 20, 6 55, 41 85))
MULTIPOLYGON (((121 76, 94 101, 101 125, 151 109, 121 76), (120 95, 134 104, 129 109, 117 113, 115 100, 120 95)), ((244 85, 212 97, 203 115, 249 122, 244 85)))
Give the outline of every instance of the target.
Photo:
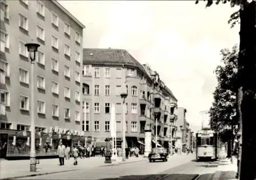
POLYGON ((57 1, 1 1, 2 132, 30 129, 31 65, 25 44, 31 41, 40 44, 33 75, 36 131, 82 130, 83 29, 57 1))

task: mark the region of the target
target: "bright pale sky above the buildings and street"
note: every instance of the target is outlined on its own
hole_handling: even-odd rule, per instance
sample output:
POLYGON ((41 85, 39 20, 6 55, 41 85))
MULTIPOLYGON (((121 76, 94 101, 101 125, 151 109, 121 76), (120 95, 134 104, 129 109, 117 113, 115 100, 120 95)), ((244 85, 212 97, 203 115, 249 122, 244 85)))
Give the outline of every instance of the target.
POLYGON ((217 85, 220 50, 239 44, 239 25, 230 29, 230 4, 195 1, 58 1, 86 29, 84 48, 126 49, 147 63, 187 109, 194 131, 201 128, 217 85))

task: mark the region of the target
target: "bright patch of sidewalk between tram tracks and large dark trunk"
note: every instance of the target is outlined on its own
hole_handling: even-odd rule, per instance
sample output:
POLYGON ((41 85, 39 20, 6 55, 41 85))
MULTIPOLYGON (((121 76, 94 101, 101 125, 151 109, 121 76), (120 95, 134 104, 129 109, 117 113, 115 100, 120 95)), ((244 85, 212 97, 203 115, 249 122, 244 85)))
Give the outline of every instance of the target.
POLYGON ((228 158, 220 159, 217 171, 212 180, 234 180, 237 174, 237 157, 233 156, 233 164, 228 158))

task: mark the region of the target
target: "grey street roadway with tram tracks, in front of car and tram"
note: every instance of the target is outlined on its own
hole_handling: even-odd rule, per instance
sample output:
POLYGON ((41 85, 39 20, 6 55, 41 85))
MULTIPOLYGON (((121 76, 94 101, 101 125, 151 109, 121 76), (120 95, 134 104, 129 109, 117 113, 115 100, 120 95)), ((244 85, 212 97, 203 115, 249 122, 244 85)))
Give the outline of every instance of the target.
MULTIPOLYGON (((73 160, 66 162, 73 163, 73 160)), ((82 163, 80 160, 78 163, 82 163)), ((77 166, 79 169, 79 164, 77 166)), ((77 171, 25 177, 20 179, 211 179, 216 166, 209 162, 196 162, 195 154, 170 156, 167 162, 134 162, 121 165, 109 165, 84 168, 77 171), (208 165, 208 167, 206 167, 208 165), (165 176, 165 177, 164 177, 165 176)))

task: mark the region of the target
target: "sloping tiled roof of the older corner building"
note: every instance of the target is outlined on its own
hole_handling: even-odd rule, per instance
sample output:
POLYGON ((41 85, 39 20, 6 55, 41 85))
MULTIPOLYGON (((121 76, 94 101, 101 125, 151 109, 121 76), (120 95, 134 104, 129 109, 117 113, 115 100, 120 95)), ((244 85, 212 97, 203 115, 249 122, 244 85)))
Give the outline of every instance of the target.
POLYGON ((147 75, 143 66, 126 50, 84 48, 82 62, 83 64, 93 65, 131 65, 147 75))

